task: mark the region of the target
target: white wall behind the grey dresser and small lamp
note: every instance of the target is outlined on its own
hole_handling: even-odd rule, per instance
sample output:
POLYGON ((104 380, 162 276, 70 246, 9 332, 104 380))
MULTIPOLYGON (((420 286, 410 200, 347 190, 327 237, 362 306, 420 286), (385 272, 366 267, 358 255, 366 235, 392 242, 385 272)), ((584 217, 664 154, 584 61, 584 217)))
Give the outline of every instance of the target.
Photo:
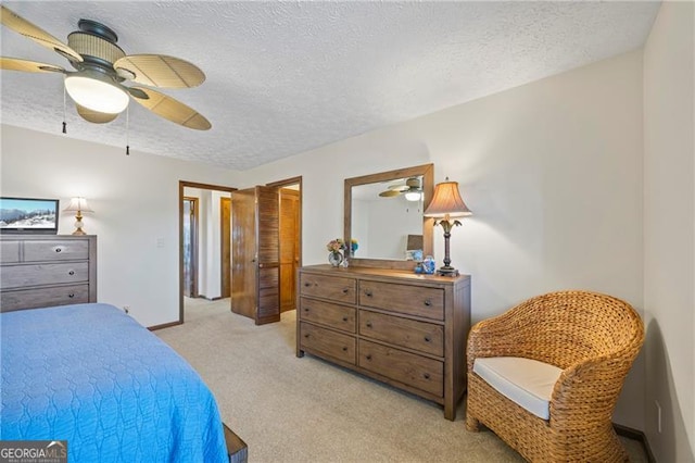
MULTIPOLYGON (((146 326, 178 320, 178 182, 233 186, 233 172, 170 158, 2 125, 0 193, 84 196, 94 210, 85 229, 98 236, 98 298, 146 326), (162 247, 157 247, 157 239, 162 247)), ((59 234, 75 218, 63 213, 59 234)))

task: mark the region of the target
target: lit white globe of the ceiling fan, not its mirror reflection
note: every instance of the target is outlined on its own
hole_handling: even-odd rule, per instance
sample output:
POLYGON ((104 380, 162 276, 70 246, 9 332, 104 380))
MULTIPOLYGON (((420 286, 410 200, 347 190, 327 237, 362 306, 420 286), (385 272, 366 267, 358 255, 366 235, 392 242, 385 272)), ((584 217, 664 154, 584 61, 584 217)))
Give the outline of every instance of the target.
POLYGON ((123 89, 92 77, 67 76, 65 90, 77 104, 100 113, 122 113, 130 101, 123 89))

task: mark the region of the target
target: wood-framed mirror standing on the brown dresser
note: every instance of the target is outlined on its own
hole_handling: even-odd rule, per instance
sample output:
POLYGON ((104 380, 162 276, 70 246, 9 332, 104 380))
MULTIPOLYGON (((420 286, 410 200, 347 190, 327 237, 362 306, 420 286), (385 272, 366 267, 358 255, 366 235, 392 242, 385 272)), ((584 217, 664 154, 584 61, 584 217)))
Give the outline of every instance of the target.
POLYGON ((351 265, 413 270, 432 254, 434 165, 345 178, 344 237, 357 240, 351 265))

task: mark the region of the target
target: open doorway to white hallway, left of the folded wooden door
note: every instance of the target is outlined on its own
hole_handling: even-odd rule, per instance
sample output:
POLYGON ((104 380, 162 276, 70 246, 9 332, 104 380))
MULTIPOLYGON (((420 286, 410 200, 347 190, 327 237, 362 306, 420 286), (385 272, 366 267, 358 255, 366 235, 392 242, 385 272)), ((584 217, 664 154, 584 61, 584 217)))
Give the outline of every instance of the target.
MULTIPOLYGON (((224 298, 223 279, 229 284, 230 203, 236 188, 179 180, 179 321, 184 323, 186 301, 216 301, 224 298), (224 218, 226 214, 227 218, 224 218)), ((227 296, 228 297, 228 296, 227 296)))

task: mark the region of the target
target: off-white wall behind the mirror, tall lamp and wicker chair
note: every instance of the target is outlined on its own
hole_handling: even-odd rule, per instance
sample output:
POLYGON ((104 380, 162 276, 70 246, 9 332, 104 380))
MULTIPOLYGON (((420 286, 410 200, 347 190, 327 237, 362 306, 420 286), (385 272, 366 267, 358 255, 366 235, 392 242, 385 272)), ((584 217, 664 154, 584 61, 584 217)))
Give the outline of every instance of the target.
MULTIPOLYGON (((325 243, 342 236, 343 178, 432 162, 435 180, 457 180, 475 214, 451 238, 453 265, 472 275, 475 321, 565 288, 607 292, 641 310, 641 58, 628 53, 248 177, 303 176, 303 259, 315 264, 326 262, 325 243), (339 160, 350 162, 337 170, 339 160)), ((442 234, 435 230, 440 263, 442 234)), ((642 363, 634 370, 616 421, 641 429, 642 363)))

